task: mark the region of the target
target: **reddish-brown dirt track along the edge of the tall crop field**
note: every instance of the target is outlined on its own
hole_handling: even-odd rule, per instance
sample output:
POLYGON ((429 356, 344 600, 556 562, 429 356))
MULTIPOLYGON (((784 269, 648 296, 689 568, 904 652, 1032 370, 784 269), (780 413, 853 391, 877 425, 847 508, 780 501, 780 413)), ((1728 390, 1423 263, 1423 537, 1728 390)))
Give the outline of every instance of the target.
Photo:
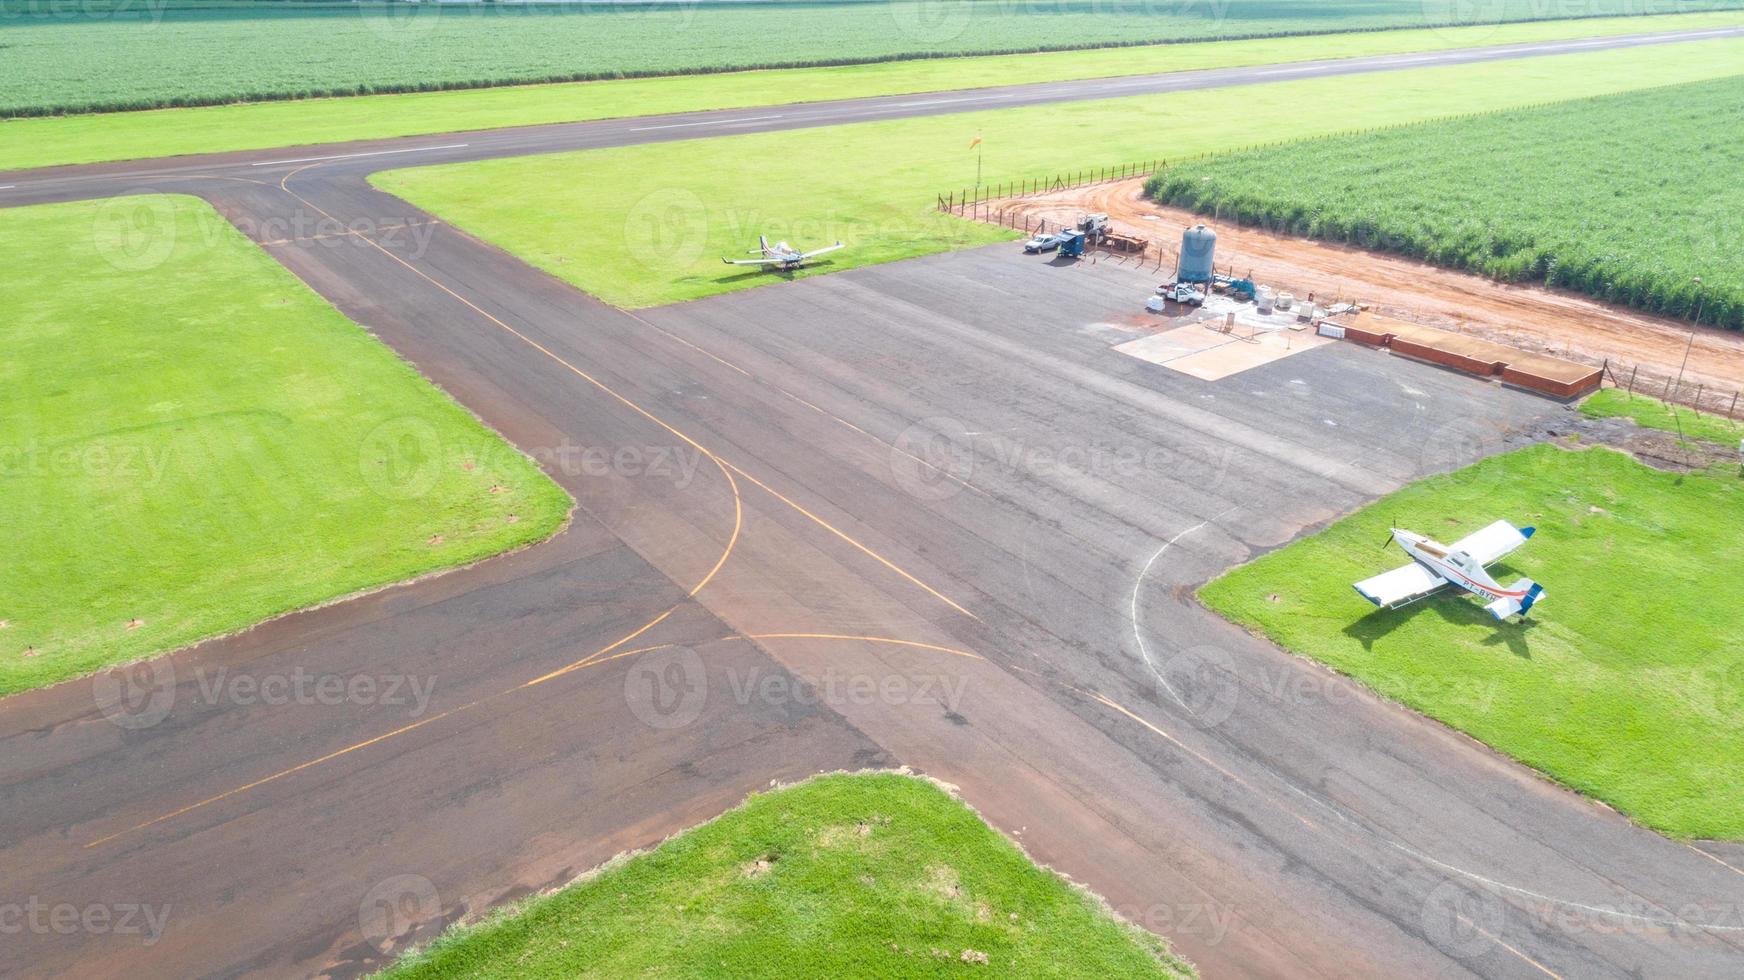
MULTIPOLYGON (((991 209, 1076 221, 1085 211, 1106 211, 1116 230, 1142 235, 1163 249, 1172 267, 1189 211, 1160 208, 1142 195, 1142 178, 1097 183, 989 204, 991 209)), ((1155 260, 1155 251, 1151 253, 1155 260)), ((1345 298, 1371 303, 1380 312, 1442 330, 1458 330, 1524 350, 1543 350, 1599 364, 1606 359, 1624 380, 1639 364, 1645 384, 1678 375, 1690 344, 1686 323, 1610 307, 1573 293, 1542 286, 1505 286, 1479 276, 1451 272, 1399 256, 1348 246, 1271 235, 1254 228, 1217 225, 1217 265, 1235 265, 1298 296, 1345 298)), ((1690 350, 1685 389, 1706 385, 1725 392, 1744 389, 1744 335, 1700 330, 1690 350)), ((1685 399, 1692 391, 1685 391, 1685 399)), ((1714 408, 1713 396, 1702 399, 1714 408)))

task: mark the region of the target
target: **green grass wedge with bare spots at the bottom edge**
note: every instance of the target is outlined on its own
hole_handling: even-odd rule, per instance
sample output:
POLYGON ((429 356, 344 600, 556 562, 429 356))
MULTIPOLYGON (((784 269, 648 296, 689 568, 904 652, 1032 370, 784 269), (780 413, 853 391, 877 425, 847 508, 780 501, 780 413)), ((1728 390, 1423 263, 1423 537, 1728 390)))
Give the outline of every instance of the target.
POLYGON ((865 774, 753 795, 654 851, 450 931, 382 977, 975 971, 1195 975, 931 783, 865 774))

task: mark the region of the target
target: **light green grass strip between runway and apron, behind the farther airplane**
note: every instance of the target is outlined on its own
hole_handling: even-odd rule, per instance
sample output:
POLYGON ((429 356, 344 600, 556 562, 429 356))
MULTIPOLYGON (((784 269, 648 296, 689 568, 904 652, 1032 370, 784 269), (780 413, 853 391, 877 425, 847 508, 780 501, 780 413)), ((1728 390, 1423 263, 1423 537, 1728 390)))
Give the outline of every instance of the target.
POLYGON ((1012 237, 933 211, 937 194, 975 181, 975 134, 985 140, 985 180, 996 183, 1725 77, 1741 59, 1744 42, 1697 42, 553 153, 371 180, 589 293, 647 307, 769 282, 767 274, 720 265, 759 234, 851 246, 809 274, 1012 237), (1320 112, 1305 113, 1305 105, 1320 112))

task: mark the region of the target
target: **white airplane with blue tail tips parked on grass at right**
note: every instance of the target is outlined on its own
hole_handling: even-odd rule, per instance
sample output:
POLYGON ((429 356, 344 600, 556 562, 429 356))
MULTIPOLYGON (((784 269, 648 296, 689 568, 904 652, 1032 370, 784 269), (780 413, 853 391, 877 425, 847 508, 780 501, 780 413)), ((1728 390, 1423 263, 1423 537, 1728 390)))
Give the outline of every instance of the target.
POLYGON ((1444 586, 1454 586, 1472 595, 1489 600, 1484 609, 1496 619, 1519 614, 1523 619, 1535 602, 1543 598, 1543 586, 1531 579, 1521 579, 1509 588, 1502 588, 1484 565, 1510 555, 1538 528, 1514 527, 1509 521, 1496 521, 1484 530, 1472 532, 1453 544, 1430 541, 1421 534, 1392 528, 1381 544, 1386 548, 1399 542, 1411 556, 1411 563, 1392 572, 1383 572, 1373 579, 1357 582, 1362 598, 1385 609, 1409 605, 1444 586))

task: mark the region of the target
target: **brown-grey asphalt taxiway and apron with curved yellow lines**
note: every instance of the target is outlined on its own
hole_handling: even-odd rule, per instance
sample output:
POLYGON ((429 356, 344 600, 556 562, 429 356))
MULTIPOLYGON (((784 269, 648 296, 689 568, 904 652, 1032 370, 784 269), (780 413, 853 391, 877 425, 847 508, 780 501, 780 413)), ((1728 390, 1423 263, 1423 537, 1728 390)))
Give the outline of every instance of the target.
MULTIPOLYGON (((832 119, 780 112, 726 129, 832 119)), ((361 181, 401 155, 248 157, 169 169, 244 230, 309 209, 427 221, 361 181)), ((162 169, 131 176, 148 171, 7 178, 0 202, 162 188, 162 169)), ((1006 246, 628 314, 441 225, 424 248, 267 241, 556 460, 577 513, 528 551, 136 668, 136 698, 87 680, 0 703, 0 900, 162 922, 51 915, 7 936, 0 971, 356 975, 771 779, 896 764, 1207 977, 1744 964, 1737 847, 1634 828, 1191 600, 1540 438, 1552 403, 1350 345, 1175 375, 1113 350, 1149 277, 1006 246), (694 466, 596 473, 576 448, 694 466), (427 701, 269 704, 215 680, 298 673, 422 682, 427 701)))

